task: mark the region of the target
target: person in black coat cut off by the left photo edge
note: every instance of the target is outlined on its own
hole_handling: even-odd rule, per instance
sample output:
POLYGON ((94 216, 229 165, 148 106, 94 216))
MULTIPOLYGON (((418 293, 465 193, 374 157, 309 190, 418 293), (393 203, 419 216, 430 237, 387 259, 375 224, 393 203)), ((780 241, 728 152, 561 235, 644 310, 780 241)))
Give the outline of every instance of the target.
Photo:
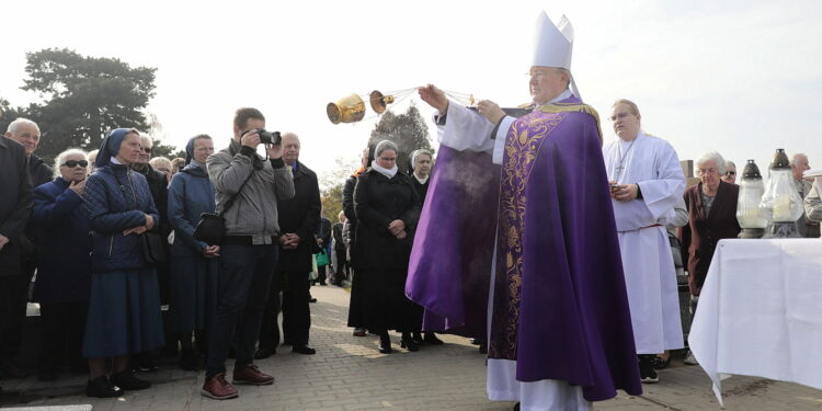
POLYGON ((16 355, 14 340, 19 340, 14 330, 20 316, 14 302, 26 284, 20 266, 20 241, 32 212, 32 182, 25 149, 5 137, 0 137, 0 361, 7 374, 7 363, 16 355))

